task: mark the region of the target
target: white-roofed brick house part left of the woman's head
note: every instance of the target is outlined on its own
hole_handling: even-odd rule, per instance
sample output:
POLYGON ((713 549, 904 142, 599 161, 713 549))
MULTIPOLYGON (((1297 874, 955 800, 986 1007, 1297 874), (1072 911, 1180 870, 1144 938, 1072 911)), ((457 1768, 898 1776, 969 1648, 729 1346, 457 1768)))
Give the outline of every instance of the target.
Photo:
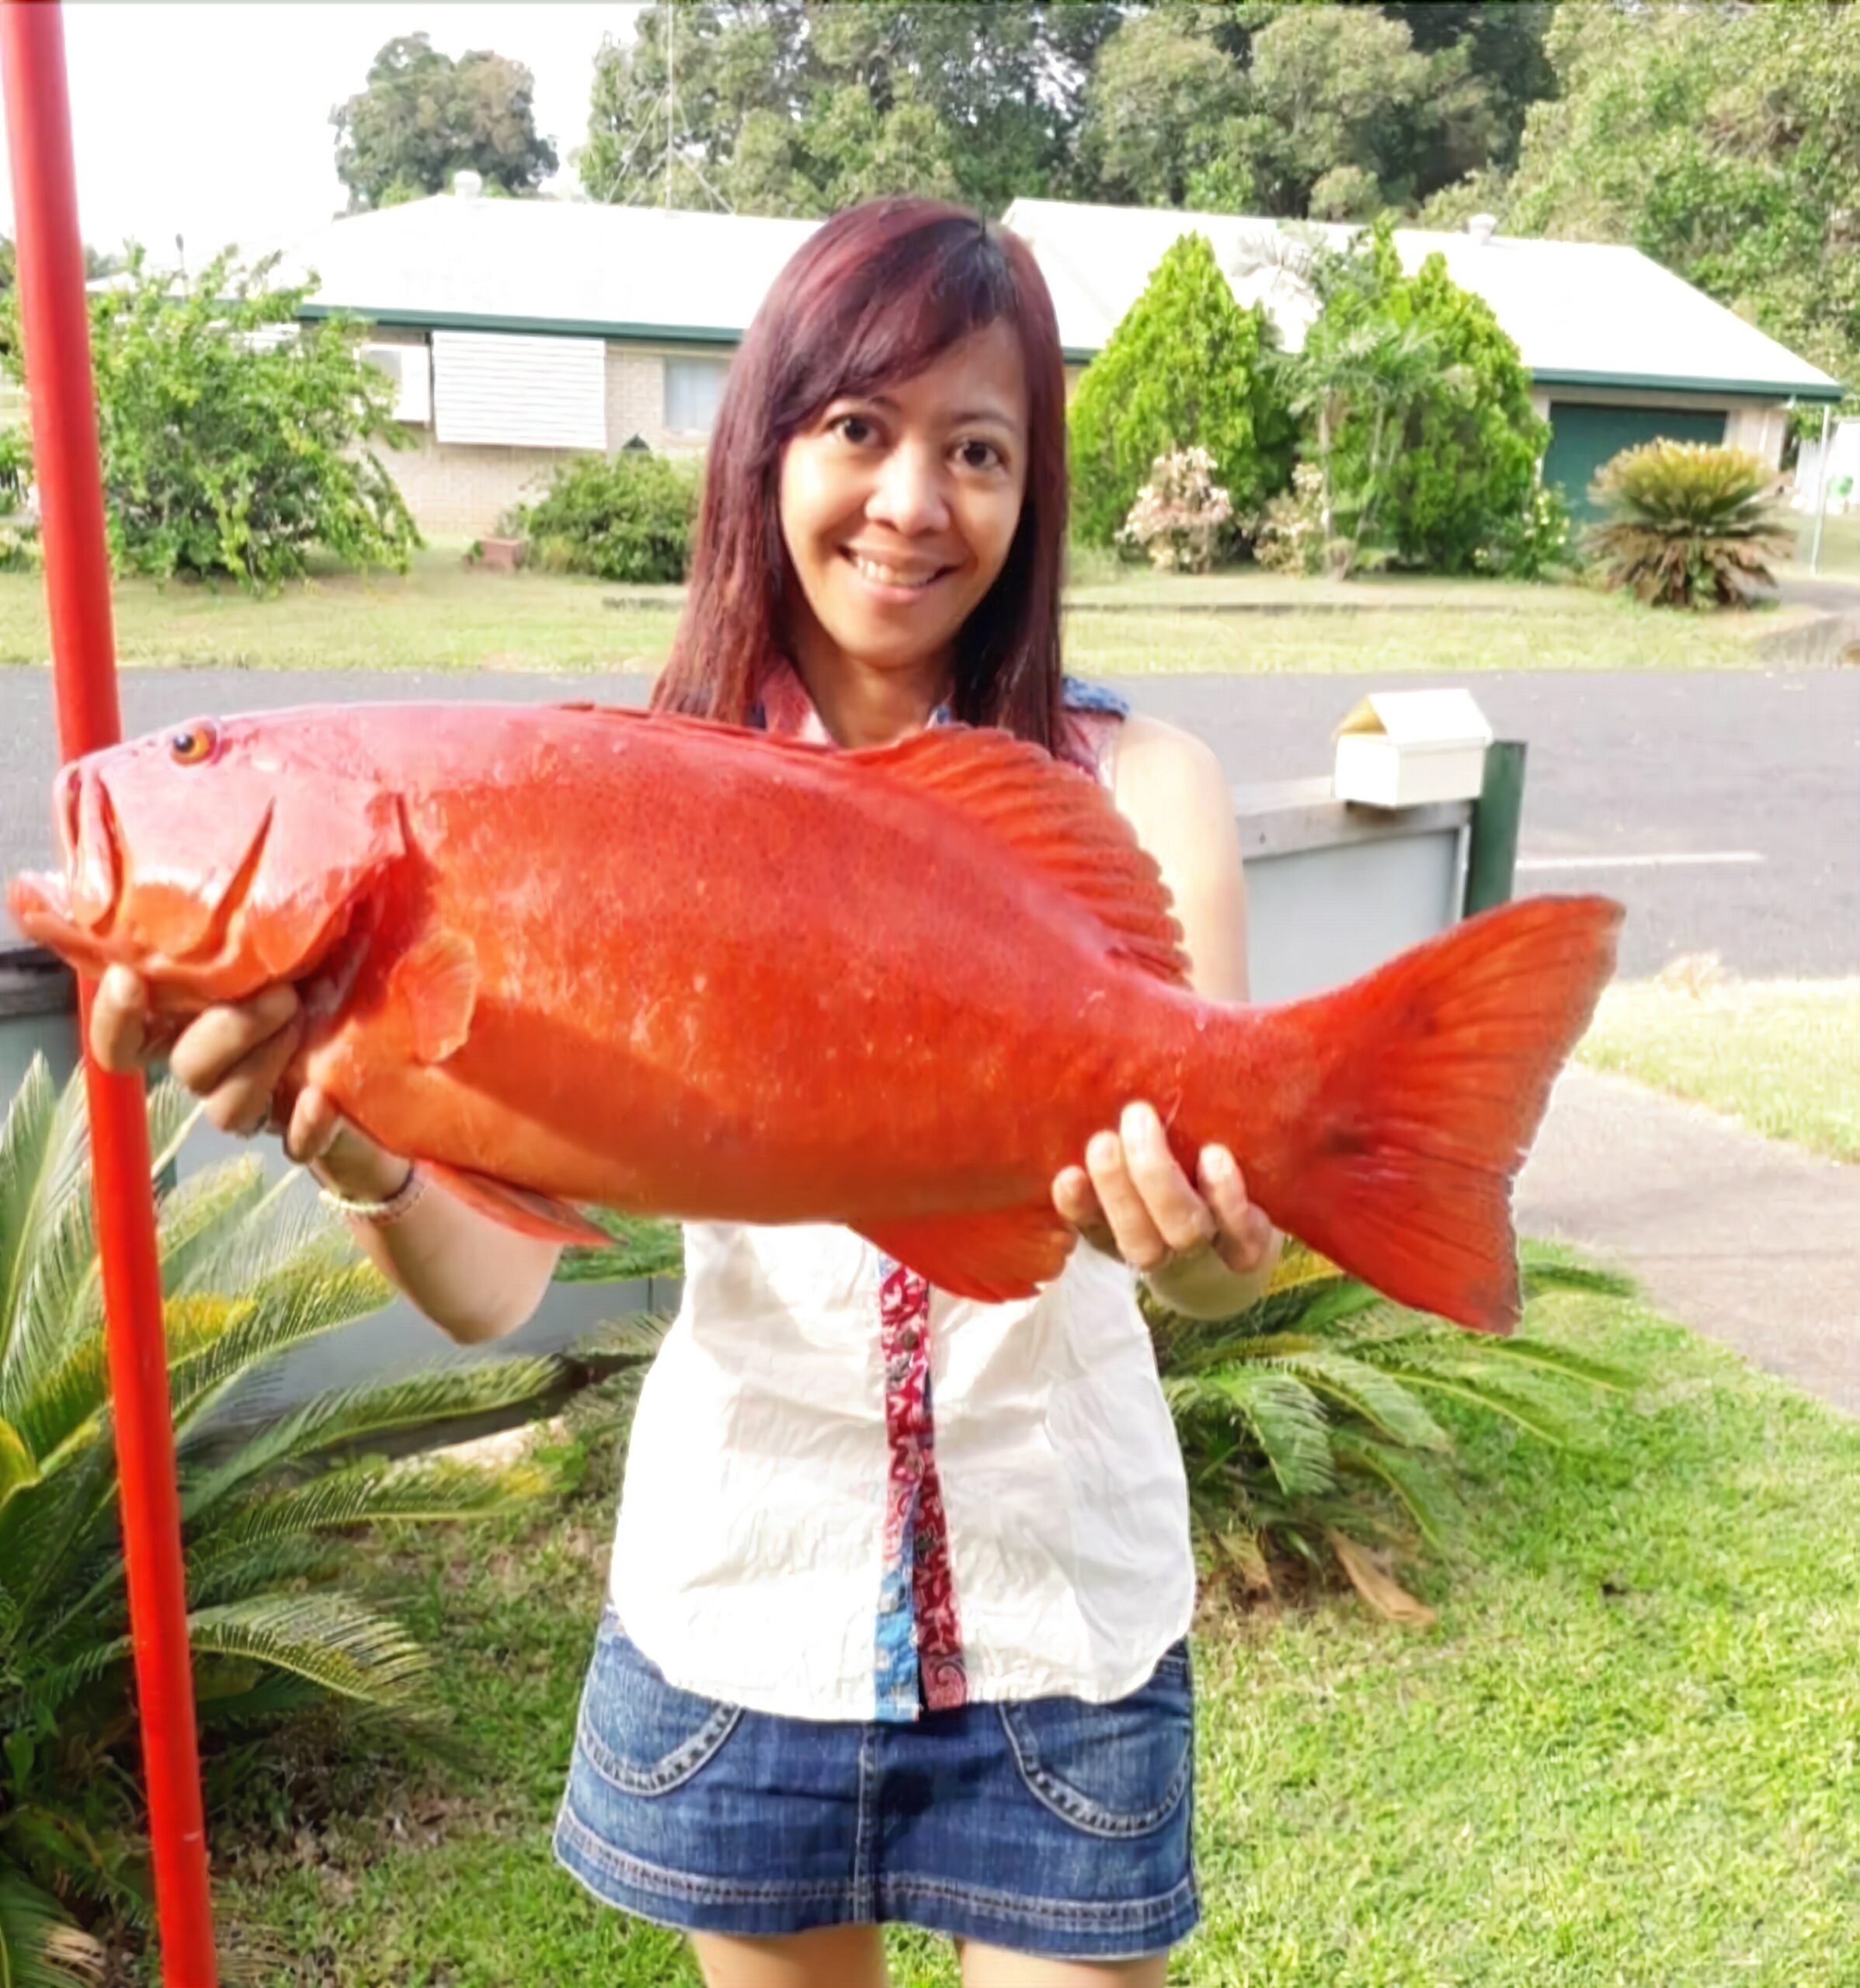
POLYGON ((306 318, 368 320, 409 447, 382 461, 427 533, 483 537, 548 471, 628 443, 701 449, 729 356, 813 221, 455 191, 292 245, 306 318))

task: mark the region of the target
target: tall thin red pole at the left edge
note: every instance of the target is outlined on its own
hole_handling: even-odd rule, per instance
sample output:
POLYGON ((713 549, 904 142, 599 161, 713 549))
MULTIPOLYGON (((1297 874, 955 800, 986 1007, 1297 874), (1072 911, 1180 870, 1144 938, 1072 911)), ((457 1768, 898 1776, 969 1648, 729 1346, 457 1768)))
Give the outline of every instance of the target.
MULTIPOLYGON (((20 328, 52 612, 58 744, 66 759, 76 759, 113 746, 123 736, 123 724, 115 690, 64 20, 56 0, 6 0, 0 60, 6 68, 20 328)), ((167 1988, 215 1988, 219 1974, 187 1650, 181 1499, 175 1489, 161 1268, 149 1191, 149 1121, 141 1077, 107 1076, 89 1058, 91 992, 89 982, 79 982, 91 1193, 109 1322, 123 1559, 163 1980, 167 1988)))

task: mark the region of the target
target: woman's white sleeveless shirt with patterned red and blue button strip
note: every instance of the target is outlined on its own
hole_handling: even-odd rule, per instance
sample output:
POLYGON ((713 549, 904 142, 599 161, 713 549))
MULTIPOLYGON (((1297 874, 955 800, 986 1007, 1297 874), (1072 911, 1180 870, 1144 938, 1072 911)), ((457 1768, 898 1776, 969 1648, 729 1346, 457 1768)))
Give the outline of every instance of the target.
MULTIPOLYGON (((769 686, 771 730, 819 736, 795 692, 769 686)), ((688 1225, 610 1598, 674 1684, 789 1718, 1135 1692, 1194 1610, 1135 1272, 1081 1242, 976 1304, 849 1229, 688 1225)))

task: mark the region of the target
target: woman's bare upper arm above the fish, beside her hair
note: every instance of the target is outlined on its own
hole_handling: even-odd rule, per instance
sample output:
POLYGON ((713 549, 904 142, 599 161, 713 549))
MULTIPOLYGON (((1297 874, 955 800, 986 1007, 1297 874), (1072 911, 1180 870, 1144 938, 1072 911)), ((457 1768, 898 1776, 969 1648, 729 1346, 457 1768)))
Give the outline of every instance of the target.
POLYGON ((1127 718, 1113 799, 1162 871, 1194 986, 1216 1000, 1246 1000, 1240 829, 1214 749, 1161 718, 1127 718))

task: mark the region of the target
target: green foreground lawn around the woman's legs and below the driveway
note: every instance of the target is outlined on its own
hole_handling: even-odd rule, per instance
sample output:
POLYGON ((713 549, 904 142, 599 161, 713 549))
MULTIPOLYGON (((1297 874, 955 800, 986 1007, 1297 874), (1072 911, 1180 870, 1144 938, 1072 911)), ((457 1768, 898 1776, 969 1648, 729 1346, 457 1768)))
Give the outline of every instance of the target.
MULTIPOLYGON (((1202 1628, 1176 1988, 1860 1984, 1860 1427, 1622 1300, 1536 1326, 1655 1380, 1586 1453, 1455 1417, 1469 1531, 1407 1576, 1433 1628, 1202 1628)), ((443 1563, 364 1549, 477 1763, 219 1827, 223 1914, 290 1956, 264 1988, 696 1984, 548 1859, 608 1527, 592 1497, 443 1563)), ((894 1960, 954 1984, 930 1940, 894 1960)))

